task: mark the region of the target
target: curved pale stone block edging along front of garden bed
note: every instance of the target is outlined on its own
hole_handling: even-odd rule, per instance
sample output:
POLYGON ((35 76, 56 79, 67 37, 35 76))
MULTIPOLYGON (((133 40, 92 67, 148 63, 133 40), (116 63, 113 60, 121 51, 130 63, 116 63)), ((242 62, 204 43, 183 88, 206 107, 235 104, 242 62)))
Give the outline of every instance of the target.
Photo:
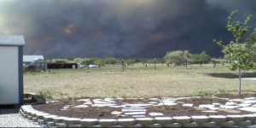
POLYGON ((25 119, 56 127, 230 127, 256 125, 256 113, 241 115, 165 116, 129 119, 79 119, 40 112, 31 105, 20 108, 25 119))

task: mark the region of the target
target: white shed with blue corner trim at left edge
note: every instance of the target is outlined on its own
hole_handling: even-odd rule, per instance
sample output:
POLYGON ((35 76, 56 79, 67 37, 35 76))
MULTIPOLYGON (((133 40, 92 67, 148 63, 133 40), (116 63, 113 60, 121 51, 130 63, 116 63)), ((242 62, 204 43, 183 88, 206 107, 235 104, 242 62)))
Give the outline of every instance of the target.
POLYGON ((22 104, 22 55, 25 40, 20 35, 0 35, 0 105, 22 104))

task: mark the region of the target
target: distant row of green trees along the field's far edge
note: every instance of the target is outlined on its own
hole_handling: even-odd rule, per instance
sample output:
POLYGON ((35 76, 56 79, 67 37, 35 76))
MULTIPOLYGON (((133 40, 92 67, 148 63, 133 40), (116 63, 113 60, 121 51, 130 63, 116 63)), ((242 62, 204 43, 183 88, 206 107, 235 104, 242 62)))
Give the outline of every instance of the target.
POLYGON ((191 54, 189 50, 175 50, 175 51, 167 51, 166 55, 163 58, 115 58, 115 57, 107 57, 107 58, 61 58, 61 59, 48 59, 47 62, 56 62, 56 61, 64 61, 64 62, 75 62, 83 65, 98 65, 99 67, 104 65, 118 65, 125 63, 125 65, 129 66, 135 63, 141 64, 153 64, 153 63, 166 63, 167 66, 170 65, 187 65, 187 64, 202 64, 210 62, 211 56, 207 55, 206 51, 201 52, 201 54, 191 54))

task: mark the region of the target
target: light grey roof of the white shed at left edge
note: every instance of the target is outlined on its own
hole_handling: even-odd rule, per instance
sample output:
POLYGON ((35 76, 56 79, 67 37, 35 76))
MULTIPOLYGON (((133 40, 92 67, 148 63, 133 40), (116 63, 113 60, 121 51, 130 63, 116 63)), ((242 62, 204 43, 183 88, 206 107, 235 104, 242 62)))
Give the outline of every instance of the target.
POLYGON ((25 45, 21 35, 0 35, 0 45, 25 45))

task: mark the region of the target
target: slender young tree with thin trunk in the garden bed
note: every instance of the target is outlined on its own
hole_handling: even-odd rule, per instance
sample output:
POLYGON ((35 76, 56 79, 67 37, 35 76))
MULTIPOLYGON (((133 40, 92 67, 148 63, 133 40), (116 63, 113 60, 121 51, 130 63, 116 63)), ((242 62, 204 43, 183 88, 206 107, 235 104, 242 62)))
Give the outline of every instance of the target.
MULTIPOLYGON (((256 67, 255 60, 253 62, 253 44, 256 42, 256 27, 249 35, 248 23, 252 20, 252 15, 248 15, 247 19, 242 23, 240 21, 233 22, 232 16, 237 13, 233 11, 228 17, 226 28, 234 36, 235 40, 231 40, 230 44, 223 44, 218 41, 218 45, 222 46, 224 55, 230 61, 228 66, 231 71, 238 70, 239 76, 239 95, 241 95, 241 70, 253 69, 256 67)), ((255 54, 255 53, 254 53, 255 54)))

